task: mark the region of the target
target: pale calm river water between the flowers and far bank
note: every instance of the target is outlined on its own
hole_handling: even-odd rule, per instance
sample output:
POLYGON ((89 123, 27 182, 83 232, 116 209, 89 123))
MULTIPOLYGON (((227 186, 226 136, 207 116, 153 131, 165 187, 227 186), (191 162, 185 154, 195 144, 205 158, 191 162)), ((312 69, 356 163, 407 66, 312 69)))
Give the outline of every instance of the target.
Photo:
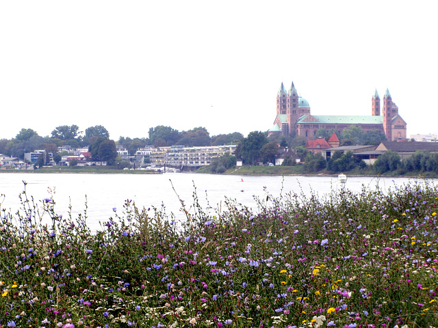
MULTIPOLYGON (((335 177, 323 176, 220 176, 211 174, 0 174, 1 208, 18 210, 18 195, 27 182, 27 195, 33 196, 38 205, 41 200, 52 197, 56 203, 56 213, 67 215, 68 205, 72 205, 73 215, 83 213, 87 201, 88 225, 99 229, 99 221, 106 221, 113 213, 123 209, 125 200, 133 200, 143 206, 166 206, 167 213, 183 218, 178 196, 186 206, 193 204, 196 187, 200 204, 218 208, 225 197, 237 200, 248 207, 256 208, 254 195, 264 196, 266 192, 278 196, 280 193, 311 192, 323 196, 340 188, 335 177), (243 180, 243 181, 242 181, 243 180), (172 183, 171 183, 171 182, 172 183), (175 191, 172 189, 175 187, 175 191), (176 193, 175 193, 176 192, 176 193), (207 202, 208 200, 208 202, 207 202)), ((364 178, 349 177, 346 187, 360 191, 362 186, 383 189, 415 181, 408 178, 364 178)))

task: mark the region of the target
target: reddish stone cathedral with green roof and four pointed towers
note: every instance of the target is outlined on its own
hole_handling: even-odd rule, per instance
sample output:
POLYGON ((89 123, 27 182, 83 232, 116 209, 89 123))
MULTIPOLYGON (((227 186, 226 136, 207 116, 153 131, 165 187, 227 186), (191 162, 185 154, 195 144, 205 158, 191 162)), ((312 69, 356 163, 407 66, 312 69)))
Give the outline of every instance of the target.
POLYGON ((311 115, 309 102, 298 96, 294 82, 288 91, 281 83, 276 94, 276 118, 268 135, 300 135, 306 139, 315 139, 320 128, 342 133, 344 128, 355 125, 363 132, 381 131, 388 141, 406 139, 406 122, 398 115, 398 107, 392 101, 389 90, 383 96, 382 111, 377 90, 371 103, 371 115, 311 115))

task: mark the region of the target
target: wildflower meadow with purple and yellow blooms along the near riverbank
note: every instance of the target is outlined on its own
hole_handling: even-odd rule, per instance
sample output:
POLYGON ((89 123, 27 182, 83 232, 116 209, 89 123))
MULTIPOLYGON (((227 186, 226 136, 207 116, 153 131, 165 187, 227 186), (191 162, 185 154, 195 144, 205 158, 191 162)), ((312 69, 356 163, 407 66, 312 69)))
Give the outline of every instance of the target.
POLYGON ((0 213, 0 327, 438 327, 428 182, 253 209, 201 208, 194 188, 184 219, 126 200, 96 232, 19 197, 0 213))

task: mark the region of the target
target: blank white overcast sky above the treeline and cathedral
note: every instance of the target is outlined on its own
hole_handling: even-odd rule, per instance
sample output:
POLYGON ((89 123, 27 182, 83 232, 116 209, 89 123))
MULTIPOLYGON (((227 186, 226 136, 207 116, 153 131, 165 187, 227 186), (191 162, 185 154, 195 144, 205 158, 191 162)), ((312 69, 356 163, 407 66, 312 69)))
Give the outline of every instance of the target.
POLYGON ((313 115, 370 115, 389 88, 408 135, 438 133, 438 2, 1 1, 0 138, 103 125, 266 131, 294 81, 313 115))

